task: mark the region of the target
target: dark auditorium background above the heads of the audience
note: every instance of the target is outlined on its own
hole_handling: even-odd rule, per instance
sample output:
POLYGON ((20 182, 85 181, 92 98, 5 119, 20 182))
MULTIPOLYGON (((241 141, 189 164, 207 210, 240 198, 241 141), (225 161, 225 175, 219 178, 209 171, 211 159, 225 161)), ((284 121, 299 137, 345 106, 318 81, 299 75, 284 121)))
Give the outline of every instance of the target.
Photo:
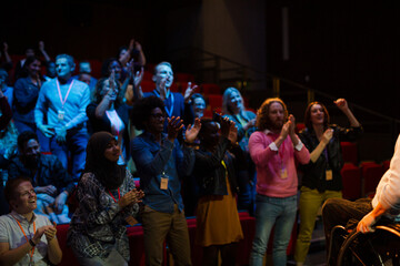
MULTIPOLYGON (((176 72, 189 73, 199 68, 199 51, 207 51, 249 68, 243 94, 252 109, 272 95, 272 75, 332 98, 346 98, 358 106, 353 111, 366 132, 381 127, 367 134, 366 142, 373 145, 371 140, 383 140, 380 136, 390 134, 389 141, 382 141, 389 149, 381 155, 390 157, 393 136, 399 131, 396 121, 400 119, 400 17, 396 3, 13 0, 1 3, 0 41, 8 42, 10 54, 23 54, 27 47, 37 48, 38 41, 43 40, 51 58, 70 53, 77 60, 104 60, 136 38, 148 62, 168 60, 176 72)), ((206 53, 200 54, 206 58, 206 53)), ((212 68, 207 72, 206 60, 202 64, 202 74, 197 75, 199 83, 214 75, 212 68)), ((283 96, 283 89, 281 82, 281 96, 289 105, 293 101, 301 121, 303 111, 297 111, 299 104, 293 100, 297 94, 283 96)), ((307 94, 303 95, 306 104, 307 94)))

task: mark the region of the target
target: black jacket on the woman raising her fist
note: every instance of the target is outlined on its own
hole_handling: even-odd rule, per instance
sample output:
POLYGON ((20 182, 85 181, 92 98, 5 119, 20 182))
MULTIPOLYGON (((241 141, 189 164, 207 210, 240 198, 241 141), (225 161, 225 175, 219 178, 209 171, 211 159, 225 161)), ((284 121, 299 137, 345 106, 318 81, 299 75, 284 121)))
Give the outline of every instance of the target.
MULTIPOLYGON (((301 185, 311 190, 317 188, 319 192, 324 192, 327 190, 342 190, 340 171, 343 167, 343 158, 341 154, 340 142, 356 141, 362 133, 361 126, 346 129, 338 125, 330 125, 329 127, 333 130, 333 136, 327 145, 326 150, 321 153, 314 163, 310 161, 306 165, 300 165, 300 170, 303 172, 301 185), (327 170, 332 170, 331 181, 327 181, 327 170)), ((316 132, 312 129, 306 127, 300 132, 299 136, 310 153, 319 144, 316 132)))

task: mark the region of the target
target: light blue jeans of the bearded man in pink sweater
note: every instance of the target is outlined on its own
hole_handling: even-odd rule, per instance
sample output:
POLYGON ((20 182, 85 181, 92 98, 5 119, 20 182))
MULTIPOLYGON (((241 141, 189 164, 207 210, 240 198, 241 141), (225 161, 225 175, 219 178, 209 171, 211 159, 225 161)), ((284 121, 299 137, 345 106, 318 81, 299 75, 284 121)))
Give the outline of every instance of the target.
POLYGON ((256 234, 250 254, 250 265, 262 265, 273 225, 273 265, 287 265, 287 248, 296 221, 296 212, 297 195, 290 197, 257 195, 256 234))

